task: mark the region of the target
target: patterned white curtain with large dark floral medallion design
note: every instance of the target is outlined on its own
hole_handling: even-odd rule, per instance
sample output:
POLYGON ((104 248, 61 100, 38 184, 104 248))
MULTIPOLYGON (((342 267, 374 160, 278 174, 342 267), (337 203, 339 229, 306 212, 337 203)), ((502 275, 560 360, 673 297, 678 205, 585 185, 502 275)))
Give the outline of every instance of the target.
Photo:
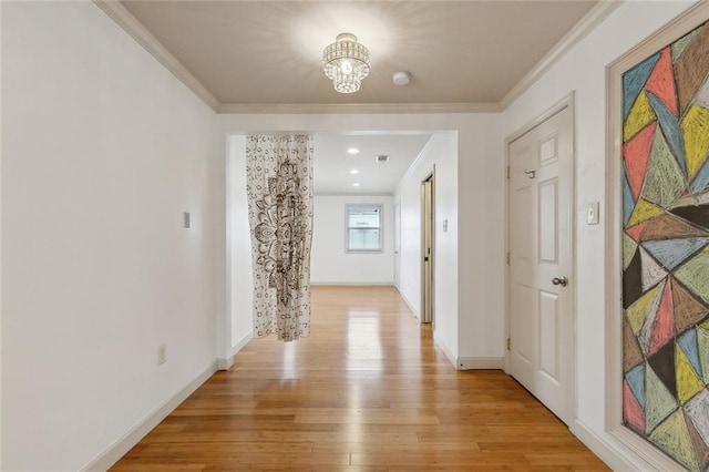
POLYGON ((310 334, 312 136, 247 136, 254 332, 310 334))

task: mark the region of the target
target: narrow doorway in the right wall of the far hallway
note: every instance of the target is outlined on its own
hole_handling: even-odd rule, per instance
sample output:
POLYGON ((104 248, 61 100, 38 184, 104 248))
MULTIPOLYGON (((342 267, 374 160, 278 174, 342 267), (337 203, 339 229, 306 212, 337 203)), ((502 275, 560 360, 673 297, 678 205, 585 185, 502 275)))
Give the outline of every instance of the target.
POLYGON ((423 222, 421 242, 421 322, 434 322, 434 228, 435 228, 435 206, 434 206, 434 174, 429 175, 421 183, 421 215, 423 222))

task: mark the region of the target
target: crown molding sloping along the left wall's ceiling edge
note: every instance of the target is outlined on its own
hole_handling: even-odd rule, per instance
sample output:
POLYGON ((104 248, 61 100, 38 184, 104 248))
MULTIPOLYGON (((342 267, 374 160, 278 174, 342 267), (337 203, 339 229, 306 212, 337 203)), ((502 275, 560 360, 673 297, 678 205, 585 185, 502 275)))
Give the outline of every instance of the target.
POLYGON ((141 44, 153 58, 173 73, 215 112, 219 101, 199 82, 157 39, 141 24, 117 0, 93 0, 94 4, 141 44))

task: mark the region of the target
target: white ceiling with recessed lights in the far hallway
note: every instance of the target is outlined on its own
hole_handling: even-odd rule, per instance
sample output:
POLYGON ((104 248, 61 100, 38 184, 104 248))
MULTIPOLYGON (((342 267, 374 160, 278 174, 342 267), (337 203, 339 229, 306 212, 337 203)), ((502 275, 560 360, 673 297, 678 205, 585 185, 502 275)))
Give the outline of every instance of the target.
POLYGON ((430 134, 316 134, 314 187, 317 195, 391 195, 431 138, 430 134), (348 148, 359 150, 349 154, 348 148), (389 155, 377 163, 379 154, 389 155), (357 170, 358 174, 350 171, 357 170), (359 183, 359 187, 352 184, 359 183))

